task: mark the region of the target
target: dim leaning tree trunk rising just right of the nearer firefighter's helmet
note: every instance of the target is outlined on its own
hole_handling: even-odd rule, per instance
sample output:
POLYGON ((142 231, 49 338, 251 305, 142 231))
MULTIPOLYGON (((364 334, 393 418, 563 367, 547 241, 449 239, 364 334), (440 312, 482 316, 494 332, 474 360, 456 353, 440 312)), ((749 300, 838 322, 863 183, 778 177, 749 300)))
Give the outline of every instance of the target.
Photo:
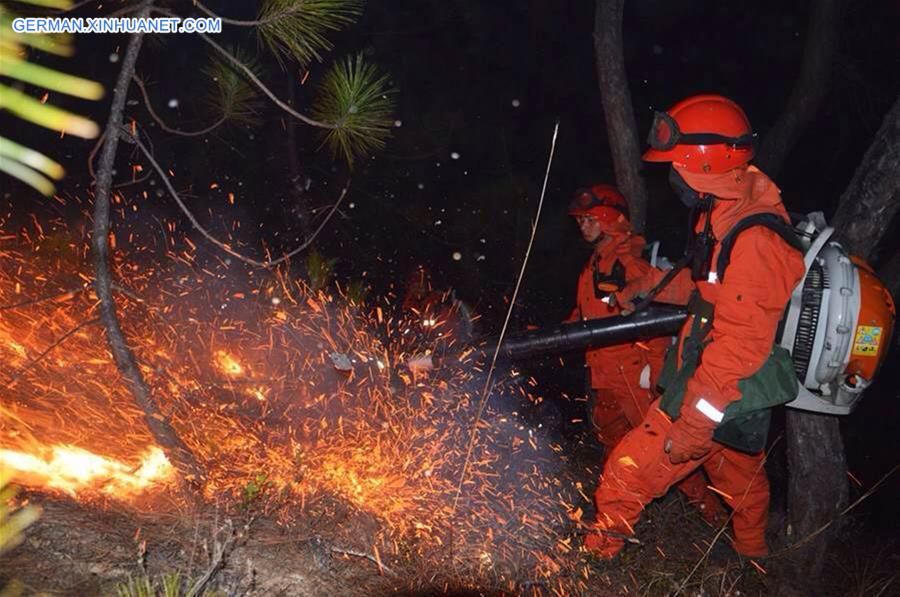
POLYGON ((778 121, 766 134, 754 162, 777 178, 803 130, 812 122, 828 91, 841 0, 812 0, 803 65, 778 121))

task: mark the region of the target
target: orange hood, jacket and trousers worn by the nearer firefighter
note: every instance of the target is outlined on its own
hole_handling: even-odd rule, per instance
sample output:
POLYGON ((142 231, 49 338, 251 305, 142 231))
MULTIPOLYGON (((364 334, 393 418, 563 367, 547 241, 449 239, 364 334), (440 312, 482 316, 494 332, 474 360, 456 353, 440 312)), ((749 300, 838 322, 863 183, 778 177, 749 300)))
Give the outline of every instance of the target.
MULTIPOLYGON (((778 214, 787 221, 777 187, 753 166, 724 174, 683 172, 682 176, 695 190, 717 198, 711 212, 716 238, 725 238, 737 222, 757 213, 778 214)), ((717 246, 713 264, 719 250, 717 246)), ((682 273, 684 280, 676 286, 688 287, 690 279, 687 272, 682 273)), ((702 298, 714 305, 715 315, 700 365, 687 384, 687 406, 682 406, 682 416, 684 408, 692 408, 698 396, 719 412, 740 399, 738 381, 751 376, 768 358, 784 305, 803 273, 799 252, 773 231, 753 227, 735 241, 727 276, 715 272, 715 276, 696 283, 702 298)), ((660 274, 651 272, 635 286, 652 286, 653 277, 660 274)), ((685 324, 682 337, 689 330, 690 322, 685 324)), ((647 503, 702 467, 734 510, 735 549, 750 557, 768 553, 765 531, 769 483, 763 469, 764 455, 745 454, 713 441, 712 450, 703 458, 672 464, 664 450, 671 427, 672 422, 654 404, 647 417, 609 455, 595 495, 598 527, 633 534, 634 523, 647 503)), ((603 537, 602 547, 592 550, 610 558, 624 543, 614 535, 603 537)))

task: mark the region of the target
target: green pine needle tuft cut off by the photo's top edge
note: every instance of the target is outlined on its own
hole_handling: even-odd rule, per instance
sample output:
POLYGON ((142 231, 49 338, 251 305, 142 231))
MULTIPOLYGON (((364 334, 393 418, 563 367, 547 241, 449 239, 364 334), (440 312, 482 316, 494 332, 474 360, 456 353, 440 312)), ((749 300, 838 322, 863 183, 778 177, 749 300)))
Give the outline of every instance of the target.
POLYGON ((325 35, 355 21, 362 8, 363 0, 266 0, 258 31, 279 62, 321 62, 333 47, 325 35))

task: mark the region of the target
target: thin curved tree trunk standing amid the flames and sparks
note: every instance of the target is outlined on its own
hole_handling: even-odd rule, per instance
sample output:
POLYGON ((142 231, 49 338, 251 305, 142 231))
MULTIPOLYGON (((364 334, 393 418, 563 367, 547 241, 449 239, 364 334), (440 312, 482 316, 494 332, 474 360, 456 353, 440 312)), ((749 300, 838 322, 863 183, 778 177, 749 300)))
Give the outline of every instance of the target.
MULTIPOLYGON (((145 4, 136 16, 146 17, 150 13, 150 4, 145 4)), ((134 354, 128 347, 128 342, 119 325, 116 315, 116 304, 112 297, 112 275, 109 271, 109 194, 112 187, 112 171, 116 157, 116 149, 119 145, 122 116, 125 108, 125 98, 128 95, 128 86, 134 75, 134 66, 138 53, 141 50, 142 34, 134 34, 128 42, 125 51, 125 59, 122 61, 122 70, 116 80, 113 90, 112 106, 110 107, 109 121, 106 125, 106 141, 100 154, 100 168, 97 172, 97 187, 94 195, 94 268, 97 277, 95 289, 100 299, 100 320, 106 328, 107 340, 119 371, 131 385, 131 391, 135 401, 144 411, 144 422, 159 443, 166 456, 172 462, 185 480, 193 483, 202 481, 203 475, 194 460, 193 454, 181 442, 178 435, 169 425, 166 418, 159 411, 150 388, 144 381, 144 376, 135 361, 134 354)))

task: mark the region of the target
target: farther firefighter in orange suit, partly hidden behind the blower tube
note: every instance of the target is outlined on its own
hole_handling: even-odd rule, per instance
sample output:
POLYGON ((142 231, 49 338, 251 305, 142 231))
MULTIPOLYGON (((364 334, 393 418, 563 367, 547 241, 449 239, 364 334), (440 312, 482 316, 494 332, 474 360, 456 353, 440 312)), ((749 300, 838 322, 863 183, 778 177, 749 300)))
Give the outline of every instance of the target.
MULTIPOLYGON (((574 216, 584 240, 594 246, 578 279, 577 306, 569 321, 619 315, 615 293, 655 270, 642 257, 645 241, 632 232, 628 203, 614 187, 596 185, 576 192, 569 215, 574 216)), ((657 338, 587 351, 593 398, 590 417, 604 455, 643 420, 655 400, 652 388, 670 345, 669 338, 657 338)), ((708 521, 724 519, 724 509, 707 490, 702 472, 685 479, 679 489, 708 521)))

